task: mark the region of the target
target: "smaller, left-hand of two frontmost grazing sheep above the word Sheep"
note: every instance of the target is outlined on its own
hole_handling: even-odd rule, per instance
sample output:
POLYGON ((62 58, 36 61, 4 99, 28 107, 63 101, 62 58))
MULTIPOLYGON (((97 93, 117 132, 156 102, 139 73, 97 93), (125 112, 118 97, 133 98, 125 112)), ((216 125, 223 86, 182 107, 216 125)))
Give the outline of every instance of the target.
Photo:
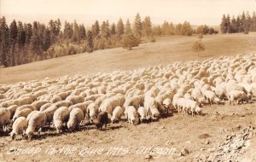
POLYGON ((15 140, 16 136, 19 134, 22 134, 22 136, 25 134, 27 127, 27 121, 25 117, 19 117, 15 120, 15 123, 13 124, 13 130, 10 132, 10 136, 12 140, 15 140))

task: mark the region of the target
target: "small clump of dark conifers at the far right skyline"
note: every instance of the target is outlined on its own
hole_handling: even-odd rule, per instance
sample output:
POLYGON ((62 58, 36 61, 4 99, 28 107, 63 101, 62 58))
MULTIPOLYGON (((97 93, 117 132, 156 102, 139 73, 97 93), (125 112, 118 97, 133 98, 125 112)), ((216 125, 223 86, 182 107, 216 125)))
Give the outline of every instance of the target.
POLYGON ((222 33, 244 32, 245 34, 248 32, 256 32, 255 12, 253 12, 252 16, 248 11, 247 14, 242 12, 242 14, 236 17, 233 15, 232 19, 230 18, 230 14, 224 14, 220 24, 220 31, 222 33))

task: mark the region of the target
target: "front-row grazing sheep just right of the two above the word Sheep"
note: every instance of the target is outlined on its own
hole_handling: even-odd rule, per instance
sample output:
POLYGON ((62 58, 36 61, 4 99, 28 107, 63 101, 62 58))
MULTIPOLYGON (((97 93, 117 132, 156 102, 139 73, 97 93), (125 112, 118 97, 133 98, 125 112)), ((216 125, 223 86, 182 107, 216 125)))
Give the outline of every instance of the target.
POLYGON ((67 107, 60 107, 58 108, 53 116, 53 123, 57 130, 57 133, 61 133, 63 128, 63 123, 67 123, 69 118, 69 110, 67 107))

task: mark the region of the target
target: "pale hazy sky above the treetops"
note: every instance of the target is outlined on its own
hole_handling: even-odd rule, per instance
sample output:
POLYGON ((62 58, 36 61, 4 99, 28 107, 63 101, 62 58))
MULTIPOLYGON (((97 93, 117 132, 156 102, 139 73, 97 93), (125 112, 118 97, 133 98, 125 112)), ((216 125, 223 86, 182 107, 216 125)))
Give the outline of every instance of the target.
POLYGON ((243 10, 250 14, 256 11, 256 0, 0 0, 0 14, 11 18, 32 20, 38 16, 49 20, 62 16, 85 23, 133 19, 139 12, 142 17, 149 15, 154 24, 189 20, 192 25, 218 26, 222 14, 237 15, 243 10))

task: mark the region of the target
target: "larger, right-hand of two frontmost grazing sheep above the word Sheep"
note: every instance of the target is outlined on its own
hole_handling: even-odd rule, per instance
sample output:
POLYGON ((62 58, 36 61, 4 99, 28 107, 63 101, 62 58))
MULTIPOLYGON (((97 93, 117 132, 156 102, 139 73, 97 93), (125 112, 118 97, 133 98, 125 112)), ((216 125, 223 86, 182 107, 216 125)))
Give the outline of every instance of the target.
POLYGON ((35 131, 38 131, 38 136, 40 136, 40 132, 46 123, 46 119, 46 114, 43 112, 37 112, 32 115, 26 128, 26 136, 29 140, 32 139, 33 132, 35 131))

